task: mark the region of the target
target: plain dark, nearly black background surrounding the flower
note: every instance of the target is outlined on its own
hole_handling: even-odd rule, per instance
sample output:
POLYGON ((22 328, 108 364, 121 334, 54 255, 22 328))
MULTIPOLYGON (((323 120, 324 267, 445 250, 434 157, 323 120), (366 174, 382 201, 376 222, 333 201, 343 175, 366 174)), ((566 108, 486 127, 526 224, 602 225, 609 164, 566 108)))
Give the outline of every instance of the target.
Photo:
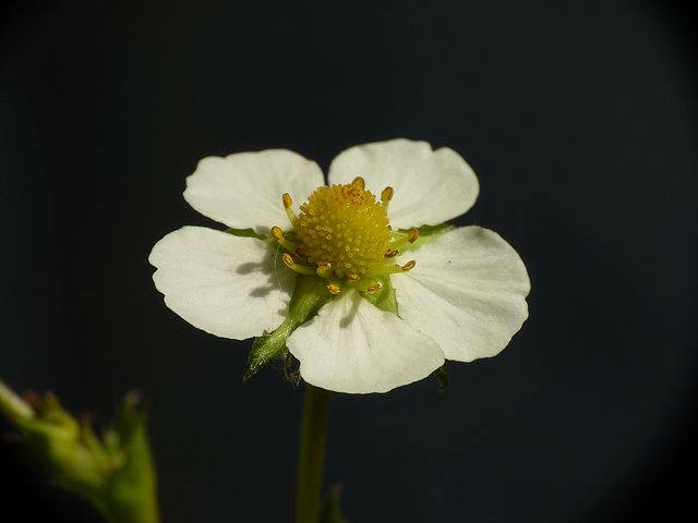
MULTIPOLYGON (((163 304, 153 244, 219 227, 181 197, 209 155, 326 170, 393 137, 481 183, 459 224, 510 242, 530 318, 495 358, 335 394, 350 522, 672 519, 694 496, 698 168, 686 12, 664 2, 52 2, 5 8, 0 377, 96 426, 131 389, 165 523, 291 521, 302 406, 250 342, 163 304)), ((688 9, 688 8, 685 8, 688 9)), ((7 426, 0 426, 0 428, 7 426)), ((97 522, 0 451, 3 521, 97 522), (22 471, 21 473, 17 471, 22 471), (32 503, 21 495, 33 494, 32 503)), ((686 516, 689 518, 689 516, 686 516)))

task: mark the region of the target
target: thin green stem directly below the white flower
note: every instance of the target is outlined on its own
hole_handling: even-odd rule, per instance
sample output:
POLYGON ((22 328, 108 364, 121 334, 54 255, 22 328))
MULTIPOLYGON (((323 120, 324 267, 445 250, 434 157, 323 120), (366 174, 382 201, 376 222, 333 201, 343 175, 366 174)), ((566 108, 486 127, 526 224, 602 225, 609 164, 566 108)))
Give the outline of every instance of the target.
POLYGON ((329 414, 329 391, 308 384, 301 452, 298 461, 296 523, 317 523, 325 454, 325 434, 329 414))

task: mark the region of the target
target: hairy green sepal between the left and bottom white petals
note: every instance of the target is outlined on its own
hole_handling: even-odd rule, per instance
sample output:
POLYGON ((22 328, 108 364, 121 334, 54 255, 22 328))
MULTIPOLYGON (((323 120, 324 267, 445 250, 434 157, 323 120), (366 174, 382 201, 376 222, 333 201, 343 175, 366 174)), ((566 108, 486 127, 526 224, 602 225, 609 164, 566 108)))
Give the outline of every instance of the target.
POLYGON ((254 340, 250 357, 244 366, 242 380, 246 381, 267 363, 288 352, 286 340, 293 331, 311 319, 320 307, 329 302, 335 294, 327 291, 327 281, 316 276, 299 275, 288 306, 288 316, 273 332, 254 340))

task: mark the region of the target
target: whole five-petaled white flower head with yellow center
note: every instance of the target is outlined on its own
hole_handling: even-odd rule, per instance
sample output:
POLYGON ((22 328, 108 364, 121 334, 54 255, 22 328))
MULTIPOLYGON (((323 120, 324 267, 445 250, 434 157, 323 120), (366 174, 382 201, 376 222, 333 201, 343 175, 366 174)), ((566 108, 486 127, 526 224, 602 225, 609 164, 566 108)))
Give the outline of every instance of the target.
POLYGON ((341 392, 385 392, 507 345, 528 317, 518 254, 480 227, 429 227, 478 196, 458 154, 366 144, 327 178, 284 149, 204 158, 184 198, 231 230, 184 227, 153 247, 167 306, 224 338, 264 340, 284 325, 303 379, 341 392), (313 282, 318 311, 300 295, 313 282), (287 319, 289 304, 305 316, 287 319))

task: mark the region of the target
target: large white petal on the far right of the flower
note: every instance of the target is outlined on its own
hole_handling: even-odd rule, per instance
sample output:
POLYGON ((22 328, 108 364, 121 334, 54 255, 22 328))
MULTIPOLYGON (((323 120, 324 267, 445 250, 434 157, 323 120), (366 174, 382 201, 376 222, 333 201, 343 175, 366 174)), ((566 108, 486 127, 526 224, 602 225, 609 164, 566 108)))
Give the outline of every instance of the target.
POLYGON ((495 232, 456 229, 402 262, 408 257, 417 266, 390 279, 398 313, 433 338, 447 360, 494 356, 528 317, 526 267, 495 232))

